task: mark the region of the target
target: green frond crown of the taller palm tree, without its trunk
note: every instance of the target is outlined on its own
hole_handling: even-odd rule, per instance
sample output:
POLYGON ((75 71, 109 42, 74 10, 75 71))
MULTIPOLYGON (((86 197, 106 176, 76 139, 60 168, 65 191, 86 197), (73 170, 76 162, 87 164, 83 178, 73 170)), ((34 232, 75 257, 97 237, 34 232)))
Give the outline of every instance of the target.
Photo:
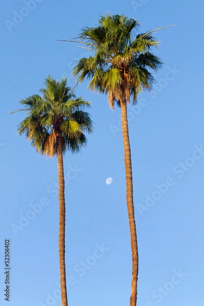
POLYGON ((133 103, 142 90, 150 90, 155 79, 150 70, 158 70, 162 61, 151 53, 157 41, 149 31, 136 35, 140 23, 124 15, 101 16, 95 28, 84 27, 80 43, 94 52, 94 56, 81 58, 73 74, 78 81, 89 79, 89 88, 108 94, 110 107, 116 102, 133 103))

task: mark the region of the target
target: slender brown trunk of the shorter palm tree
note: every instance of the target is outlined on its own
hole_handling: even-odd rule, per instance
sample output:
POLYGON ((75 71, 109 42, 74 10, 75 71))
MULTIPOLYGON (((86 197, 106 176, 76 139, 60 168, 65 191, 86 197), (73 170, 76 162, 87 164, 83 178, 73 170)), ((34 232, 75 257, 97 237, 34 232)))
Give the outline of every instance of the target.
POLYGON ((59 182, 59 260, 60 260, 60 286, 62 306, 67 306, 67 287, 65 270, 65 199, 64 199, 64 168, 61 138, 57 140, 57 163, 59 182))

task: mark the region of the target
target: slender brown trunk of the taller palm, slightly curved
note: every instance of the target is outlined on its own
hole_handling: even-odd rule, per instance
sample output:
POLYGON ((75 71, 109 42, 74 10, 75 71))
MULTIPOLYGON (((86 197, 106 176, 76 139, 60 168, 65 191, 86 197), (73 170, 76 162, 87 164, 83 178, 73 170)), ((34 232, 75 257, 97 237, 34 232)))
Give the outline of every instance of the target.
POLYGON ((124 145, 124 163, 126 176, 126 201, 127 212, 129 216, 130 232, 131 232, 131 248, 132 248, 132 285, 131 285, 131 299, 130 306, 135 306, 137 303, 137 278, 138 278, 138 247, 137 234, 134 215, 133 203, 133 177, 132 177, 132 163, 131 163, 131 148, 127 123, 127 105, 126 101, 121 103, 121 123, 122 123, 122 138, 124 145))

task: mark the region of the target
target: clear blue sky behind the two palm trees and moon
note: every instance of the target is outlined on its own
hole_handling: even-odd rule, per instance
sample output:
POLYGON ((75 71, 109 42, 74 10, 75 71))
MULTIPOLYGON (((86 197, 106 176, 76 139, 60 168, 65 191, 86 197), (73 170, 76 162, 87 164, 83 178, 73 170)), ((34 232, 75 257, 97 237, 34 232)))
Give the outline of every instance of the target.
MULTIPOLYGON (((61 305, 57 161, 40 157, 17 136, 24 114, 10 112, 19 108, 21 98, 38 93, 47 74, 58 79, 66 75, 74 84, 73 61, 87 52, 56 39, 77 36, 83 25, 93 26, 106 12, 140 20, 140 32, 177 24, 156 34, 162 41, 156 54, 165 62, 155 75, 157 86, 151 94, 140 95, 137 107, 129 108, 138 306, 203 305, 203 4, 189 0, 12 0, 2 5, 1 305, 8 304, 7 238, 9 305, 61 305), (41 207, 38 214, 34 206, 41 207)), ((95 131, 81 154, 64 158, 68 300, 71 306, 124 306, 130 298, 131 248, 120 110, 111 111, 105 95, 86 88, 83 84, 76 93, 93 101, 95 131), (107 177, 113 177, 109 186, 107 177)))

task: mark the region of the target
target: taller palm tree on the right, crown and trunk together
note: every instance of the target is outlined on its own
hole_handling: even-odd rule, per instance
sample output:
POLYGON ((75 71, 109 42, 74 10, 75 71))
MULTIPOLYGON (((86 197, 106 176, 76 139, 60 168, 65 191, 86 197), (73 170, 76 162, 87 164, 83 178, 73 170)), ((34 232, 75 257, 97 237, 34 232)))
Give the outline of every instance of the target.
MULTIPOLYGON (((124 15, 101 16, 98 26, 84 27, 78 37, 83 48, 93 56, 81 58, 73 69, 78 82, 90 80, 88 88, 108 94, 110 108, 116 103, 121 109, 122 137, 126 175, 126 203, 129 215, 132 247, 132 290, 130 305, 137 303, 138 246, 133 203, 131 149, 127 124, 127 103, 137 101, 142 90, 150 90, 154 77, 150 70, 158 70, 162 62, 151 53, 158 41, 149 31, 136 35, 139 22, 124 15)), ((162 29, 162 28, 160 28, 162 29)), ((159 29, 157 29, 159 30, 159 29)))

